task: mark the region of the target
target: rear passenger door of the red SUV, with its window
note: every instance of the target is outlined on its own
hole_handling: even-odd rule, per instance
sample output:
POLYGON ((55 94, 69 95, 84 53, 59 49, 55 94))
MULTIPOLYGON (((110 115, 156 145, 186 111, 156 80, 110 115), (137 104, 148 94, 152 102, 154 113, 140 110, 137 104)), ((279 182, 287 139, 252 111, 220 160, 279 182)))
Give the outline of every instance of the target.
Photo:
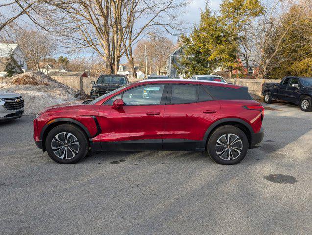
POLYGON ((197 84, 170 84, 164 113, 163 149, 203 147, 205 132, 221 116, 220 104, 197 84))

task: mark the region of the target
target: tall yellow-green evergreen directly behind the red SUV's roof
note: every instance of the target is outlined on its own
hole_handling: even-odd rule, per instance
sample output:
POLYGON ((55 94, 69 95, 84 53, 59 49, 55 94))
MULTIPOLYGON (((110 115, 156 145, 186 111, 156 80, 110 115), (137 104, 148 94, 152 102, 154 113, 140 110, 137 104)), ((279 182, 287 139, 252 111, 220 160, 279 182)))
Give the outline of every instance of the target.
POLYGON ((262 12, 259 0, 224 0, 220 14, 213 13, 207 3, 198 27, 194 26, 190 37, 181 37, 185 57, 178 69, 192 76, 237 68, 239 32, 262 12))

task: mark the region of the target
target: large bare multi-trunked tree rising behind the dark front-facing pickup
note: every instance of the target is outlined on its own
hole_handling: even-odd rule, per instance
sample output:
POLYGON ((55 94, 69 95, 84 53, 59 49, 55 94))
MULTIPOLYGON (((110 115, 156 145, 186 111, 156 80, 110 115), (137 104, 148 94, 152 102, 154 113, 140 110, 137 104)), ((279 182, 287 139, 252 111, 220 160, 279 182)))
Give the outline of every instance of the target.
POLYGON ((183 0, 49 0, 57 12, 51 26, 72 47, 92 48, 105 61, 105 69, 117 73, 120 59, 150 28, 169 30, 177 22, 183 0))

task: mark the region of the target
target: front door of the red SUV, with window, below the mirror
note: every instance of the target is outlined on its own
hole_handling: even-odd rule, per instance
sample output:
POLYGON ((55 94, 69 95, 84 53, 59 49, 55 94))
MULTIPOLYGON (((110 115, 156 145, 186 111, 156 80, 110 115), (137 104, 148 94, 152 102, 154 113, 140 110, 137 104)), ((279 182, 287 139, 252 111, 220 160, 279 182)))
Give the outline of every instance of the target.
POLYGON ((160 149, 167 90, 166 84, 136 86, 101 105, 98 119, 102 148, 160 149), (118 98, 125 105, 116 109, 112 104, 118 98))

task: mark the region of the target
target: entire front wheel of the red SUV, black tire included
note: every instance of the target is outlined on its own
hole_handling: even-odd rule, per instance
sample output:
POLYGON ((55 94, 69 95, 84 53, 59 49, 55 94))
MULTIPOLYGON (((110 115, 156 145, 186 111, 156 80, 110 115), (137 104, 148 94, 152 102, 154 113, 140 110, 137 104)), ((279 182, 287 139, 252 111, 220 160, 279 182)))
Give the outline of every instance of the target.
POLYGON ((48 133, 45 145, 50 158, 61 164, 77 163, 89 150, 89 141, 84 131, 71 124, 54 127, 48 133))

